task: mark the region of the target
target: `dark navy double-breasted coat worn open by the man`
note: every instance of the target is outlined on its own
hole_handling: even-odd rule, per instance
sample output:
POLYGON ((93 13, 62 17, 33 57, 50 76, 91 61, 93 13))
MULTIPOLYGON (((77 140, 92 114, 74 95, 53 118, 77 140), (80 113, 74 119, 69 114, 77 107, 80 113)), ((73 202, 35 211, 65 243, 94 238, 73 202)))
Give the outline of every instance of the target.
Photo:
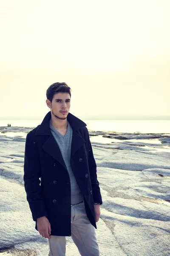
MULTIPOLYGON (((54 139, 49 111, 27 134, 24 159, 24 186, 32 218, 46 216, 52 236, 71 236, 71 183, 59 146, 54 139)), ((102 204, 96 162, 86 124, 68 113, 73 129, 71 167, 85 200, 89 221, 96 228, 94 203, 102 204)))

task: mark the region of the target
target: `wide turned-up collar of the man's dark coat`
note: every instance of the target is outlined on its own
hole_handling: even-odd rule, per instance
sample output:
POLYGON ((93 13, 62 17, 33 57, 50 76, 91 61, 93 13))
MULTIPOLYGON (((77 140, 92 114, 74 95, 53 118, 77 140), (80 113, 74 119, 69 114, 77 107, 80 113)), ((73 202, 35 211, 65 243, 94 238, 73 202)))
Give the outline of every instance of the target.
MULTIPOLYGON (((38 127, 35 135, 51 135, 50 125, 49 121, 51 119, 51 111, 49 111, 44 119, 42 120, 42 123, 38 127)), ((83 126, 86 126, 85 122, 77 118, 71 113, 68 113, 67 116, 68 122, 70 123, 73 131, 77 131, 78 129, 82 128, 83 126)))

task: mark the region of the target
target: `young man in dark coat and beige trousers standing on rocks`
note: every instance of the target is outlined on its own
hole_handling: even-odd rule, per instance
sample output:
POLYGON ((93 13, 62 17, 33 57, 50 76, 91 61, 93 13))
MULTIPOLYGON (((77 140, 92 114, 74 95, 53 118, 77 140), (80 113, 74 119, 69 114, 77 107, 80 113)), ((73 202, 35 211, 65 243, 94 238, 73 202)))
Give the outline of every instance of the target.
POLYGON ((23 179, 35 229, 48 239, 48 256, 65 256, 65 236, 80 255, 99 256, 102 197, 88 129, 69 113, 67 84, 52 84, 46 96, 50 111, 27 134, 25 148, 23 179))

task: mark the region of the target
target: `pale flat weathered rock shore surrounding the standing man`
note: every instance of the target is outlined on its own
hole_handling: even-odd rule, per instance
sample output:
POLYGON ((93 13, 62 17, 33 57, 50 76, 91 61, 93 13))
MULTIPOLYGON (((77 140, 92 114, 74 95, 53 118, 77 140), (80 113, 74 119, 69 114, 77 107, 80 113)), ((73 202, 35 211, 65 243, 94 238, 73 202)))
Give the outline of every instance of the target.
MULTIPOLYGON (((25 138, 31 129, 10 127, 0 133, 2 256, 48 255, 23 183, 25 138)), ((169 256, 170 134, 90 134, 103 199, 96 230, 100 255, 169 256)), ((71 237, 66 240, 66 256, 78 256, 71 237)))

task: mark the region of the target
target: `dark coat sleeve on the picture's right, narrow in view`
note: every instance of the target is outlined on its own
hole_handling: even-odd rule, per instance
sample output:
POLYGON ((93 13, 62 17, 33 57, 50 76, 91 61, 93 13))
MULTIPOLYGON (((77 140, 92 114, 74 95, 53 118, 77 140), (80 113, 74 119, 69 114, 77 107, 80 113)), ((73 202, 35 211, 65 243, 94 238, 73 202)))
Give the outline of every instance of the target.
MULTIPOLYGON (((87 133, 88 133, 88 129, 87 129, 87 133)), ((88 136, 88 167, 89 167, 90 178, 91 178, 94 204, 95 203, 102 204, 102 196, 100 193, 99 181, 97 180, 97 166, 96 166, 96 161, 94 159, 94 154, 91 146, 89 133, 87 136, 88 136)))

